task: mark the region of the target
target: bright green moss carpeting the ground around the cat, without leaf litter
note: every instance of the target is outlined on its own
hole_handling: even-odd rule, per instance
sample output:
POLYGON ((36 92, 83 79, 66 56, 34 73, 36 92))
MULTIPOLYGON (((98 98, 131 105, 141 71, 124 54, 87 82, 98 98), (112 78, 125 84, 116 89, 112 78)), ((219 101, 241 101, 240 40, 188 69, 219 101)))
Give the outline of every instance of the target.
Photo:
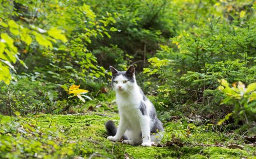
MULTIPOLYGON (((109 158, 123 158, 125 155, 129 156, 130 158, 241 158, 242 156, 248 156, 248 153, 255 150, 249 145, 245 145, 245 149, 248 151, 248 153, 245 150, 240 149, 193 146, 193 144, 189 143, 199 142, 200 140, 202 142, 206 142, 207 140, 211 140, 210 142, 213 142, 215 139, 217 140, 220 137, 211 138, 211 132, 203 130, 198 131, 198 127, 194 127, 195 132, 191 132, 192 135, 186 137, 187 131, 184 130, 186 128, 186 123, 181 123, 179 121, 165 124, 165 136, 168 137, 168 139, 165 138, 164 140, 172 140, 172 134, 182 137, 181 139, 185 142, 185 145, 181 148, 177 146, 131 146, 124 145, 120 142, 114 143, 107 140, 104 123, 108 120, 113 120, 117 125, 119 116, 116 113, 104 112, 104 114, 88 113, 84 115, 39 114, 23 117, 23 119, 33 125, 36 125, 37 127, 40 127, 43 132, 51 131, 52 133, 57 133, 58 137, 61 139, 61 142, 56 142, 58 140, 55 140, 54 142, 57 144, 55 146, 58 146, 61 153, 63 153, 63 155, 61 154, 63 157, 67 156, 66 152, 69 152, 69 154, 71 154, 69 156, 82 156, 85 158, 95 154, 100 154, 109 158)), ((48 140, 48 138, 48 136, 45 137, 46 140, 48 140)), ((15 141, 14 138, 10 138, 10 140, 15 141)), ((36 140, 30 140, 30 145, 33 146, 35 141, 36 140)), ((12 143, 12 141, 10 143, 12 143)), ((42 148, 44 147, 43 145, 41 146, 42 148)), ((41 146, 39 145, 38 148, 41 146)), ((9 150, 7 150, 7 153, 8 152, 9 150)), ((11 151, 9 153, 11 153, 11 151)), ((15 153, 16 152, 13 152, 13 154, 15 153)), ((45 150, 37 151, 37 153, 38 155, 42 156, 47 156, 49 154, 49 152, 45 152, 45 150)), ((53 157, 53 155, 51 157, 53 157)))

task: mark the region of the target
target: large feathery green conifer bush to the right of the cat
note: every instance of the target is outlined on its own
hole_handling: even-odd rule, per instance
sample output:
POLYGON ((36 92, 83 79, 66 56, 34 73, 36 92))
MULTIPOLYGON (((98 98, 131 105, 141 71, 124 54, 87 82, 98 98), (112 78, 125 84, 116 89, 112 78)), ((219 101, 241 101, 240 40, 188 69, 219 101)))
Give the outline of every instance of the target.
MULTIPOLYGON (((159 111, 224 117, 234 105, 220 105, 225 97, 216 90, 218 80, 246 85, 255 82, 253 7, 250 2, 236 5, 231 10, 224 3, 200 8, 204 14, 198 16, 205 18, 191 18, 198 22, 180 30, 169 44, 160 44, 156 57, 148 59, 150 66, 144 68, 144 81, 150 81, 145 84, 147 89, 157 93, 155 104, 159 111)), ((190 4, 188 8, 193 7, 190 4)))

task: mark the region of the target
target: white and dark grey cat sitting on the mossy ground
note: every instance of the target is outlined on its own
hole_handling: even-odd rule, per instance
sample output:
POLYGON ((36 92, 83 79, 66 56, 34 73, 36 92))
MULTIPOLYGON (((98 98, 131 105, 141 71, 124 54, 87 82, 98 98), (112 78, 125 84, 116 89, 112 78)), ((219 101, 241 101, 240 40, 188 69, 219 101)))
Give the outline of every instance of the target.
POLYGON ((157 118, 154 105, 136 83, 134 66, 127 71, 118 71, 110 66, 110 70, 120 121, 117 129, 113 121, 105 123, 108 140, 122 139, 123 144, 142 146, 159 143, 163 125, 157 118))

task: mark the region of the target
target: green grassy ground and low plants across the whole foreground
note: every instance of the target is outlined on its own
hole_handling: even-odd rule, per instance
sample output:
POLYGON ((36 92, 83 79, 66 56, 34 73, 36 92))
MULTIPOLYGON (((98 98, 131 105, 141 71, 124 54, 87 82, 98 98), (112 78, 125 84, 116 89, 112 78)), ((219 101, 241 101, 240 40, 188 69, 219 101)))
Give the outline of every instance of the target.
POLYGON ((114 143, 106 140, 104 123, 114 120, 117 124, 118 119, 117 113, 110 112, 78 115, 39 114, 19 117, 18 121, 23 125, 20 127, 24 127, 27 134, 33 134, 34 131, 35 135, 26 136, 15 130, 2 133, 0 150, 2 149, 3 153, 0 156, 15 158, 11 153, 17 152, 16 156, 20 158, 35 156, 37 158, 124 158, 125 156, 129 158, 252 158, 255 151, 254 147, 246 144, 243 150, 212 146, 216 143, 229 144, 229 137, 219 136, 207 125, 195 126, 184 119, 164 124, 165 135, 162 145, 167 142, 172 142, 172 145, 142 147, 114 143), (27 125, 27 128, 24 125, 27 125), (10 149, 3 149, 3 141, 7 136, 19 140, 20 144, 11 143, 10 149), (177 145, 179 142, 183 145, 182 147, 177 145), (26 147, 23 148, 24 146, 27 146, 27 150, 26 147))

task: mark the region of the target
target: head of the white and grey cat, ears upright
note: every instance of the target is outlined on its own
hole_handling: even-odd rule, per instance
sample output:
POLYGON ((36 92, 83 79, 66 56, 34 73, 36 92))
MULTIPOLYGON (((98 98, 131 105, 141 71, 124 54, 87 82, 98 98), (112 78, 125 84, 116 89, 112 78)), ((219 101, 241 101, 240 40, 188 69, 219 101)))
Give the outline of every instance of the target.
POLYGON ((112 86, 116 92, 129 92, 136 85, 135 68, 130 66, 127 71, 118 71, 110 66, 112 72, 112 86))

